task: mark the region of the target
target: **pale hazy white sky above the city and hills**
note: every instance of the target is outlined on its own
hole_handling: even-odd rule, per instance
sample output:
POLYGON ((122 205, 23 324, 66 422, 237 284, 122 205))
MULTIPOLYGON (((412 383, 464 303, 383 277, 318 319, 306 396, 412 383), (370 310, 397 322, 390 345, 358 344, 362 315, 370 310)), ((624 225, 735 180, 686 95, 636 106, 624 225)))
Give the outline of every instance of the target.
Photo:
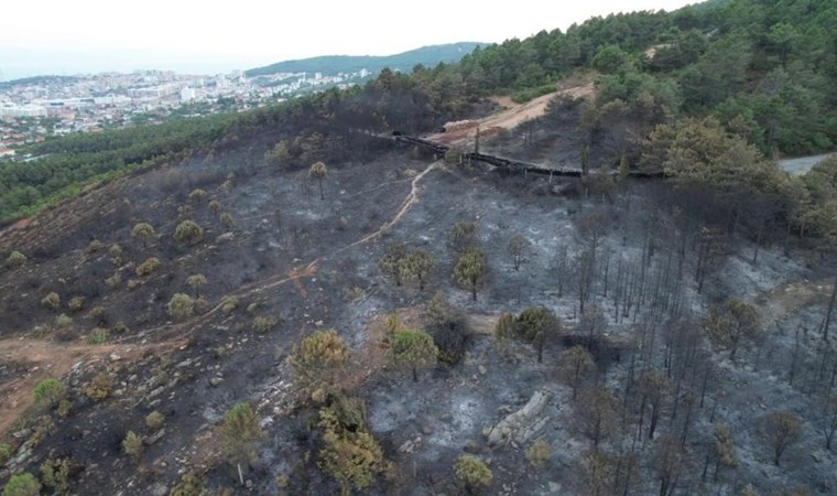
POLYGON ((315 55, 499 43, 593 15, 694 2, 517 0, 498 2, 500 9, 456 0, 9 0, 0 13, 0 79, 135 68, 215 73, 315 55))

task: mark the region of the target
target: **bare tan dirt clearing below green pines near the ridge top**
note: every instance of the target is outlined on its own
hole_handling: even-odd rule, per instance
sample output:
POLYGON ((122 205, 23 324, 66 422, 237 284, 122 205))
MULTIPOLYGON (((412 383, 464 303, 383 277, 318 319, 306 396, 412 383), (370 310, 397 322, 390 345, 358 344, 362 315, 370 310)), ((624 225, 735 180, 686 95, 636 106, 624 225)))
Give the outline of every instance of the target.
POLYGON ((486 137, 496 134, 501 129, 513 129, 521 122, 535 119, 546 112, 546 106, 550 100, 559 95, 568 95, 574 98, 587 98, 595 93, 595 84, 590 76, 583 77, 580 80, 573 79, 572 85, 568 83, 557 85, 557 90, 547 95, 540 96, 525 104, 517 104, 509 96, 496 96, 490 99, 497 104, 501 110, 470 121, 454 122, 446 126, 446 132, 439 132, 427 137, 431 141, 437 141, 445 144, 455 144, 466 140, 474 139, 477 126, 480 128, 480 136, 486 137), (488 133, 487 133, 488 131, 488 133))

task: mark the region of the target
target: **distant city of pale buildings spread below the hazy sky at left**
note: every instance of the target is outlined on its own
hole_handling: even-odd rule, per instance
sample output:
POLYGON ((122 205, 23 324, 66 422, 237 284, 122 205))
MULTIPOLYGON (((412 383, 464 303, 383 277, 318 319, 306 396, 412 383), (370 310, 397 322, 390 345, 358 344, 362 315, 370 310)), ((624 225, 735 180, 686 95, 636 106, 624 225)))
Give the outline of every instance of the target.
POLYGON ((139 71, 0 83, 0 159, 21 159, 22 147, 53 136, 241 111, 329 87, 345 88, 370 77, 366 68, 252 78, 243 71, 215 76, 139 71))

